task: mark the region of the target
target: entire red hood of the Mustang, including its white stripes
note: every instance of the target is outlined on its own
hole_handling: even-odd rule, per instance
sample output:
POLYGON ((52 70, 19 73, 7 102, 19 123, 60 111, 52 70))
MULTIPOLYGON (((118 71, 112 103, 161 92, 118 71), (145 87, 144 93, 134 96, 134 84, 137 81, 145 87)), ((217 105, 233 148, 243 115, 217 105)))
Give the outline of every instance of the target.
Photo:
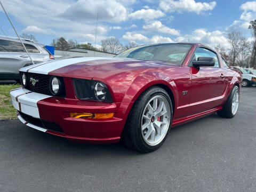
POLYGON ((170 67, 161 61, 128 58, 70 58, 39 63, 20 69, 30 73, 49 74, 73 78, 107 78, 131 70, 170 67))

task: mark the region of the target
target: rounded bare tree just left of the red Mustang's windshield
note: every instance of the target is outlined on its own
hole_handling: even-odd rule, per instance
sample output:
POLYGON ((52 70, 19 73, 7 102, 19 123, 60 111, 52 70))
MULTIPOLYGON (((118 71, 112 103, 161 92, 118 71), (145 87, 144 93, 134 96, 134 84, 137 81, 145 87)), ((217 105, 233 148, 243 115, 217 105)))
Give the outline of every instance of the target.
POLYGON ((101 41, 102 50, 110 53, 118 53, 122 51, 123 46, 119 39, 115 37, 109 37, 101 41))

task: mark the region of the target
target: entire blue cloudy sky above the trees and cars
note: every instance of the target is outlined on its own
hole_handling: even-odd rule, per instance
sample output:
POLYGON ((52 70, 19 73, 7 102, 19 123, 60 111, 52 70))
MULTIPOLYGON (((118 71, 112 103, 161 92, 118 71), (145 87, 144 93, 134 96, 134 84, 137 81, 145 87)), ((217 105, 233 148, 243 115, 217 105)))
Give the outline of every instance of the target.
MULTIPOLYGON (((2 0, 19 34, 33 34, 39 43, 65 37, 97 44, 114 36, 123 45, 166 42, 201 42, 229 47, 227 34, 247 29, 256 19, 256 1, 242 0, 2 0)), ((0 27, 15 36, 3 11, 0 27)), ((4 35, 0 31, 0 35, 4 35)))

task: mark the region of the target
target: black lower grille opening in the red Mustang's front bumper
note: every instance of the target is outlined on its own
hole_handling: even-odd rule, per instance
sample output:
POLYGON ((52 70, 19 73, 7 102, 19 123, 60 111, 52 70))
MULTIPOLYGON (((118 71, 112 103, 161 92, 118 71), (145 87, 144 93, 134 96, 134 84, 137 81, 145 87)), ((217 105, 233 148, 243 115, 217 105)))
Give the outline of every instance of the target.
POLYGON ((28 123, 42 127, 47 130, 64 133, 60 125, 55 122, 46 121, 43 119, 35 118, 19 111, 20 116, 28 123))

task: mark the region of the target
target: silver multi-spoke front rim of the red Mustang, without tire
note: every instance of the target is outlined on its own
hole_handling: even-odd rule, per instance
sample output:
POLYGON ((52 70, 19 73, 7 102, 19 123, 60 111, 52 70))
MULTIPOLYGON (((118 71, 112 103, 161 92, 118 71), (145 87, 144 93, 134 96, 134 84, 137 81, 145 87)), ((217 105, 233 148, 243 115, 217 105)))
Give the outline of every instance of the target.
POLYGON ((155 95, 143 109, 141 117, 143 140, 150 146, 158 145, 165 138, 170 121, 170 103, 162 95, 155 95))

